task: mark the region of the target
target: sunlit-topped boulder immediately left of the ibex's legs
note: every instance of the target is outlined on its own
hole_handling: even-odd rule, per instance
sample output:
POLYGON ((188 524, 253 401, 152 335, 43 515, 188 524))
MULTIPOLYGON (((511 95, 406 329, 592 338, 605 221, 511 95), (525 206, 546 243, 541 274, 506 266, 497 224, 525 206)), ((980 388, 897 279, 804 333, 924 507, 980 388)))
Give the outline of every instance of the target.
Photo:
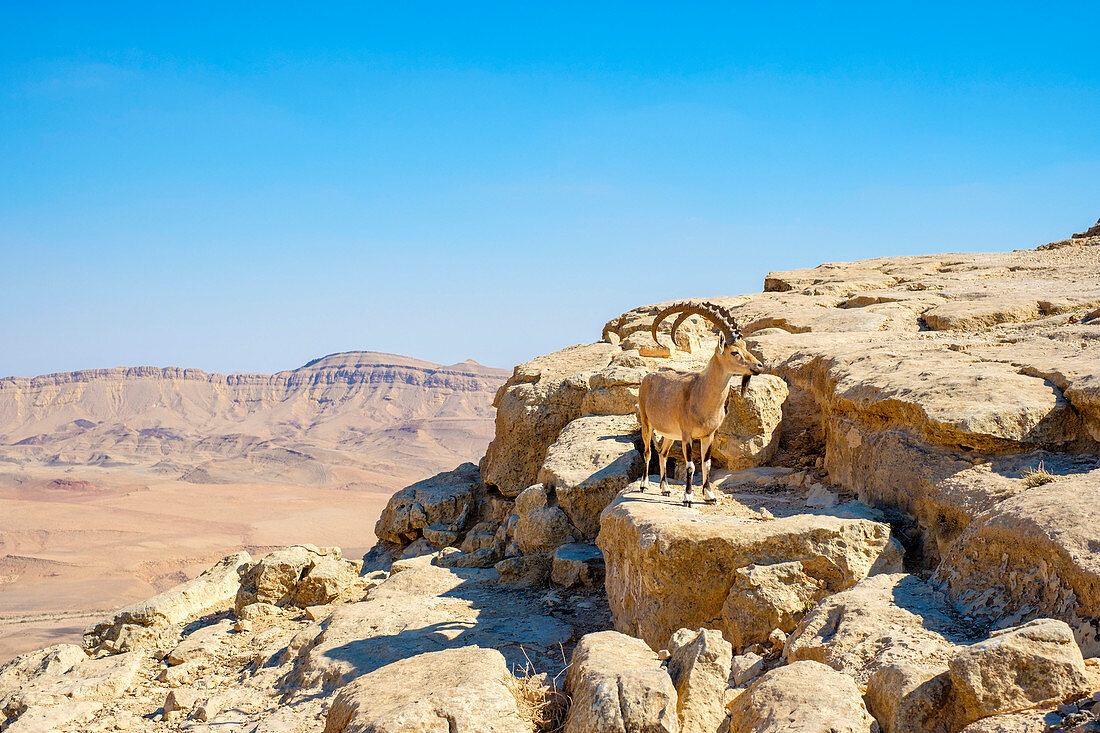
POLYGON ((538 480, 557 493, 558 505, 581 532, 578 539, 595 537, 600 513, 641 475, 637 431, 634 416, 580 417, 547 450, 538 480))

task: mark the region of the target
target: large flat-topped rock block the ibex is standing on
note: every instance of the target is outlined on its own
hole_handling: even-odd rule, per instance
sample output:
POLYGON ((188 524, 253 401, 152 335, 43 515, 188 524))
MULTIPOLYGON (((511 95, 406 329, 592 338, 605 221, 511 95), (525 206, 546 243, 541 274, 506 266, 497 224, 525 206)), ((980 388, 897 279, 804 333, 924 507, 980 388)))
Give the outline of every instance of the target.
POLYGON ((836 590, 872 571, 900 569, 890 527, 858 502, 810 513, 782 497, 734 494, 717 506, 688 508, 637 488, 604 511, 596 544, 615 627, 654 649, 683 627, 740 639, 723 617, 739 568, 822 558, 836 590))

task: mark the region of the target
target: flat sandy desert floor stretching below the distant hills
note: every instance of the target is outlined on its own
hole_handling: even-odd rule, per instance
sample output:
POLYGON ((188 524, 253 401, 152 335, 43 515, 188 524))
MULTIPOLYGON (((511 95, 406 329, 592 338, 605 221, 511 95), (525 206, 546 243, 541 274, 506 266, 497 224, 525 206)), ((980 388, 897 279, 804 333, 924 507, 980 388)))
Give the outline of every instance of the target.
MULTIPOLYGON (((33 470, 46 483, 61 474, 33 470)), ((358 557, 402 485, 327 489, 194 484, 117 469, 67 470, 87 481, 43 491, 0 482, 0 663, 78 642, 105 611, 145 599, 237 549, 337 545, 358 557)))

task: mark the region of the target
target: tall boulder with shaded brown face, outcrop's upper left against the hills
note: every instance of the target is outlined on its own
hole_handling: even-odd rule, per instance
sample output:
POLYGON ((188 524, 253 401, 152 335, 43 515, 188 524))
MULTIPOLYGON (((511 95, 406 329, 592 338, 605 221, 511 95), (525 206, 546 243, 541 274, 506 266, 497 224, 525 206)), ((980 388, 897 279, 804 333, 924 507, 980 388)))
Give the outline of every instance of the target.
POLYGON ((505 496, 536 483, 547 449, 581 416, 588 378, 617 352, 610 343, 580 344, 516 366, 493 402, 496 437, 481 462, 485 482, 505 496))

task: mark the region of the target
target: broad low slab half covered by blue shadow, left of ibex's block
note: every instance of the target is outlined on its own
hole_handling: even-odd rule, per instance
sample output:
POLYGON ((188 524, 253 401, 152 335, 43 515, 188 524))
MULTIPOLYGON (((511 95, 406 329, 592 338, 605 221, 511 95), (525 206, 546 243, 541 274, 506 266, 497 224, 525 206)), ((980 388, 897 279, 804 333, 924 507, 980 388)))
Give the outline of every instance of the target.
POLYGON ((571 625, 540 611, 534 593, 502 587, 496 570, 424 564, 302 631, 289 649, 292 681, 333 689, 407 657, 465 646, 498 649, 518 667, 529 657, 539 671, 557 672, 559 644, 572 635, 571 625))

